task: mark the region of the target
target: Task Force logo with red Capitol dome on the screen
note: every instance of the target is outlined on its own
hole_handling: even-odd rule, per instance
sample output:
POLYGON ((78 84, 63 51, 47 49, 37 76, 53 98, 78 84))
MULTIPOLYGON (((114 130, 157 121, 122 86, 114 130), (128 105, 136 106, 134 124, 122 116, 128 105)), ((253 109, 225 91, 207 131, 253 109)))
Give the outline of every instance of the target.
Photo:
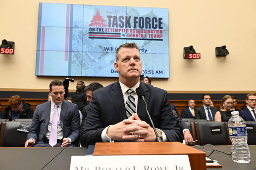
POLYGON ((132 39, 163 41, 163 18, 112 16, 106 20, 97 10, 89 24, 90 39, 132 39))

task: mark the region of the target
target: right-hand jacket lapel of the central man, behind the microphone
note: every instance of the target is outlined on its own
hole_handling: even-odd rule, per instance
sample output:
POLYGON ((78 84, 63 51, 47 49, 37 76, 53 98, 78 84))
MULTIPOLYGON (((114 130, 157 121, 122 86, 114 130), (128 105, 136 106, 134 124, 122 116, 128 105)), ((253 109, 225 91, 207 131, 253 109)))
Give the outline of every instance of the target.
MULTIPOLYGON (((140 87, 144 90, 145 101, 148 105, 149 104, 149 95, 150 95, 149 90, 143 83, 140 83, 140 87)), ((142 119, 142 120, 148 119, 145 102, 142 99, 138 99, 137 114, 140 117, 140 119, 142 119)))

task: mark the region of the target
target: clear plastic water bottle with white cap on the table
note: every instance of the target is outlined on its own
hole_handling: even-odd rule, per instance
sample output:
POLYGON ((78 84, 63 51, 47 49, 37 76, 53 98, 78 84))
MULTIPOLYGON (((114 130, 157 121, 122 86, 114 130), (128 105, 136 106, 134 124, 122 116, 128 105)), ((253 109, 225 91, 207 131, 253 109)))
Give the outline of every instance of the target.
POLYGON ((232 159, 237 163, 251 162, 251 155, 247 144, 247 130, 244 119, 238 111, 231 112, 232 117, 228 121, 228 131, 232 142, 232 159))

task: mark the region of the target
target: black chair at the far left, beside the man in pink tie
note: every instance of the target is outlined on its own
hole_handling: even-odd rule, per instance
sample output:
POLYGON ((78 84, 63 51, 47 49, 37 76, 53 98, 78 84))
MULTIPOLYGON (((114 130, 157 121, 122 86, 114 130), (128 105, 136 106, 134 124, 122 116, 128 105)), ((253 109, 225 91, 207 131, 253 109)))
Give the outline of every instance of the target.
POLYGON ((24 147, 27 134, 17 131, 21 122, 3 122, 0 133, 0 147, 24 147))

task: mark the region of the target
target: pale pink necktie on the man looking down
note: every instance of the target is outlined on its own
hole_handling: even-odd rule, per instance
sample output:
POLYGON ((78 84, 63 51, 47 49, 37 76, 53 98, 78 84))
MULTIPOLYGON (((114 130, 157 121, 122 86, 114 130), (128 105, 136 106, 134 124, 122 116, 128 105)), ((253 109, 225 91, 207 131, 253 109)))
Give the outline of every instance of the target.
POLYGON ((50 131, 50 139, 49 139, 49 145, 51 145, 51 147, 57 144, 57 128, 58 128, 58 117, 59 117, 58 105, 55 104, 54 106, 55 106, 55 110, 52 116, 52 127, 50 131))

